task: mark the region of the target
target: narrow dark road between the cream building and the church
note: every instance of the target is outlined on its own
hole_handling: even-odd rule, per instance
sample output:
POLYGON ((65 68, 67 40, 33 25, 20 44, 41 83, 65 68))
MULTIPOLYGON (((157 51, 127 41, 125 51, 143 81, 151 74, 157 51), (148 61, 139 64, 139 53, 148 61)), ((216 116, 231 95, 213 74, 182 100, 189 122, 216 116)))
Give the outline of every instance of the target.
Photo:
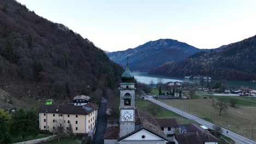
POLYGON ((104 143, 106 124, 106 101, 102 100, 98 109, 96 131, 94 134, 94 139, 92 140, 92 144, 104 143))

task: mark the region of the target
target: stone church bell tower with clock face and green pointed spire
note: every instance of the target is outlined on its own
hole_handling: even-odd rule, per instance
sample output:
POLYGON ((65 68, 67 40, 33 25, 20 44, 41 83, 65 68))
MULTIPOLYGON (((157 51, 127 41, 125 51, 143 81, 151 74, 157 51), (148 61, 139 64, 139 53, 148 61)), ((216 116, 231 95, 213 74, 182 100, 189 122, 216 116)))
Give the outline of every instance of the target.
POLYGON ((121 75, 120 83, 120 133, 123 137, 135 130, 135 83, 134 76, 129 69, 128 58, 124 73, 121 75))

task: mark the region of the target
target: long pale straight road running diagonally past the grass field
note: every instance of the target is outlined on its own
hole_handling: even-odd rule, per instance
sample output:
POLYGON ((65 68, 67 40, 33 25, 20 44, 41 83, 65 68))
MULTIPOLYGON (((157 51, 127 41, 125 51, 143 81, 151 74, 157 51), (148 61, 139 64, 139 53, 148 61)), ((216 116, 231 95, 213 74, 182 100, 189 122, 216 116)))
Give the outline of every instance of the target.
MULTIPOLYGON (((210 129, 213 129, 213 125, 214 125, 213 123, 207 122, 207 121, 205 121, 205 120, 203 120, 201 118, 198 118, 198 117, 196 117, 194 115, 190 115, 187 112, 183 112, 182 110, 176 109, 176 108, 174 108, 174 107, 172 107, 170 105, 167 105, 167 104, 162 103, 162 102, 160 102, 158 100, 155 100, 152 96, 147 95, 144 91, 141 91, 141 90, 139 90, 139 91, 144 96, 144 99, 148 99, 149 101, 152 101, 152 103, 160 105, 160 106, 164 107, 167 110, 176 112, 179 115, 182 115, 182 116, 187 117, 189 119, 193 119, 197 123, 200 123, 200 124, 205 125, 206 127, 210 128, 210 129)), ((231 139, 235 140, 236 143, 238 143, 238 144, 240 144, 240 143, 241 144, 256 144, 255 141, 253 141, 251 139, 248 139, 247 137, 238 135, 238 134, 236 134, 236 133, 234 133, 234 132, 232 132, 230 130, 227 130, 225 128, 222 128, 222 129, 223 129, 223 133, 222 133, 223 135, 226 135, 226 136, 230 137, 231 139), (229 133, 227 134, 226 131, 228 131, 229 133)))

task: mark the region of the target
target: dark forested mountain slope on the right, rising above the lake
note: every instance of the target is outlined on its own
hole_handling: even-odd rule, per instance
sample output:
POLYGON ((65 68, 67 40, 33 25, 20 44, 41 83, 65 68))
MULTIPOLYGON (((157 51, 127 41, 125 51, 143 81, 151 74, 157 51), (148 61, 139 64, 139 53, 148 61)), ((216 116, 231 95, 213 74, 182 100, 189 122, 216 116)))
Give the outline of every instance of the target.
POLYGON ((256 79, 256 35, 218 51, 202 51, 180 62, 162 64, 150 74, 168 76, 205 75, 214 79, 256 79))

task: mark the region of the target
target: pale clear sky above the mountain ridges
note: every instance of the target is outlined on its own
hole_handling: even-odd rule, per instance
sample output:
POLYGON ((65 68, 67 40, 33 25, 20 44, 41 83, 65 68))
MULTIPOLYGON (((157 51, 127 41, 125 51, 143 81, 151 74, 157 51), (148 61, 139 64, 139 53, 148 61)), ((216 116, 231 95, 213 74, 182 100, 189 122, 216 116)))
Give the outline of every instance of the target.
POLYGON ((255 0, 18 0, 107 51, 176 39, 212 49, 256 34, 255 0))

